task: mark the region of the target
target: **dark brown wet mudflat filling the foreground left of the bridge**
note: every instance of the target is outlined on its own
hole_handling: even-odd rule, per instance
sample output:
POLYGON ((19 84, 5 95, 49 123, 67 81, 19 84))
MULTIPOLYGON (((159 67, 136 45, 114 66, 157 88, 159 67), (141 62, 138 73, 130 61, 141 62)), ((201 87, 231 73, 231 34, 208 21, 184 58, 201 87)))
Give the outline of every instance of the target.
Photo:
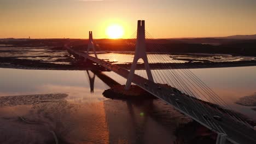
POLYGON ((214 143, 216 139, 161 100, 74 103, 63 97, 67 96, 2 98, 0 143, 214 143), (15 103, 18 99, 25 102, 15 103), (30 100, 32 104, 27 103, 30 100))

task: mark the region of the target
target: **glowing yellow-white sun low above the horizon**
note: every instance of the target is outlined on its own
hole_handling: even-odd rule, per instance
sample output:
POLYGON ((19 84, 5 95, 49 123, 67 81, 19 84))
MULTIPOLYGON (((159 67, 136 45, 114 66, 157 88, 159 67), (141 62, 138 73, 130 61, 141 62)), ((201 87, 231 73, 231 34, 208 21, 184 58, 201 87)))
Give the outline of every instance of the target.
POLYGON ((107 27, 106 34, 110 39, 119 39, 124 35, 124 28, 120 25, 111 25, 107 27))

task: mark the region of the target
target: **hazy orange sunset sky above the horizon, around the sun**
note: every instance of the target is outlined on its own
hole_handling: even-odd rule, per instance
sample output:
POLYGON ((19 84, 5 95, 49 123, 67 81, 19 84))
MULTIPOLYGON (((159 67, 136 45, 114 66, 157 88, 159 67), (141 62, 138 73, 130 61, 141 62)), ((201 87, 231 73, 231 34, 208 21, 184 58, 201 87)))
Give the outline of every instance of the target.
POLYGON ((154 38, 256 34, 253 0, 1 0, 0 10, 0 38, 108 38, 113 24, 130 38, 137 20, 154 38))

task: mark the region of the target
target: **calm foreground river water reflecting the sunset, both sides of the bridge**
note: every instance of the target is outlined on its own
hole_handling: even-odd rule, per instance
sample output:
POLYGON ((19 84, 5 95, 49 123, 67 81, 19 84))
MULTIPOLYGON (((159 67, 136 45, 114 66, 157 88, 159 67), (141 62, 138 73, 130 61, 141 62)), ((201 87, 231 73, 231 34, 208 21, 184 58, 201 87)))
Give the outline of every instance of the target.
MULTIPOLYGON (((234 103, 256 92, 256 67, 191 71, 232 109, 256 119, 252 107, 234 103)), ((117 74, 104 74, 125 83, 117 74)), ((104 98, 102 93, 109 86, 97 76, 94 85, 90 85, 89 77, 94 77, 91 71, 1 68, 0 97, 49 93, 66 93, 68 97, 59 103, 0 107, 0 123, 5 123, 0 126, 3 134, 0 142, 49 142, 52 140, 49 137, 53 137, 51 130, 63 143, 178 143, 185 139, 174 132, 178 125, 191 120, 173 110, 172 106, 158 99, 122 101, 104 98), (29 121, 39 119, 44 125, 22 123, 18 117, 29 121)))

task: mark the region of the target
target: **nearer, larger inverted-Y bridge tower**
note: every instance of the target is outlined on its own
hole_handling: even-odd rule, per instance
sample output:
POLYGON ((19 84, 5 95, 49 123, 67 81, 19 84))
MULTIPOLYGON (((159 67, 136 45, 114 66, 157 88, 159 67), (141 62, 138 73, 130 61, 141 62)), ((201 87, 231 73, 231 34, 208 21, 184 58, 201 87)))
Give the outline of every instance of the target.
POLYGON ((135 56, 133 58, 133 62, 131 65, 131 70, 128 76, 128 79, 126 81, 125 89, 129 89, 131 86, 131 82, 133 79, 133 75, 136 69, 136 65, 138 62, 138 59, 142 58, 144 61, 145 69, 147 71, 148 79, 150 81, 153 81, 153 76, 149 68, 147 53, 146 53, 146 39, 145 39, 145 21, 144 20, 138 20, 137 25, 137 41, 136 41, 136 49, 135 49, 135 56))

